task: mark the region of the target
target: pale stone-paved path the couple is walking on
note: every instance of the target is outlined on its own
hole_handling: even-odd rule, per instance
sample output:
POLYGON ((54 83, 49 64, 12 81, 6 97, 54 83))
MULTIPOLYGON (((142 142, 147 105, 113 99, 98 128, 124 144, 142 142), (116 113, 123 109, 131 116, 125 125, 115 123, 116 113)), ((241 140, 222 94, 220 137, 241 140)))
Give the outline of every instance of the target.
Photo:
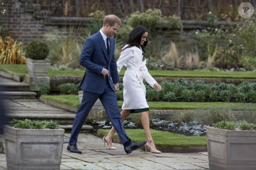
MULTIPOLYGON (((54 108, 37 100, 11 100, 8 102, 11 112, 26 112, 32 114, 37 111, 48 114, 49 110, 67 114, 63 109, 54 108), (22 103, 23 106, 20 106, 22 103)), ((60 113, 61 114, 61 113, 60 113)), ((104 147, 102 138, 92 134, 79 134, 78 148, 82 154, 67 151, 68 138, 70 134, 64 135, 64 146, 61 160, 61 170, 207 170, 207 152, 198 153, 162 153, 154 154, 133 151, 131 154, 124 152, 123 145, 114 143, 118 150, 108 150, 104 147)), ((3 140, 3 136, 0 137, 3 140)), ((5 154, 0 154, 0 170, 6 170, 5 154)))

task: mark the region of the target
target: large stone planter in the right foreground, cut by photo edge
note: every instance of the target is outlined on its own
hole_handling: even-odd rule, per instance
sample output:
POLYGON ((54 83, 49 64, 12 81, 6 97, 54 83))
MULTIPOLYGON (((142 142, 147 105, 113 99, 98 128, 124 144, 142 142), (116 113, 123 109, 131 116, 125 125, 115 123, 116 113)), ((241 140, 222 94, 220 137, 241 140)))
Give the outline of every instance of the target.
POLYGON ((207 152, 213 170, 256 170, 256 130, 207 127, 207 152))

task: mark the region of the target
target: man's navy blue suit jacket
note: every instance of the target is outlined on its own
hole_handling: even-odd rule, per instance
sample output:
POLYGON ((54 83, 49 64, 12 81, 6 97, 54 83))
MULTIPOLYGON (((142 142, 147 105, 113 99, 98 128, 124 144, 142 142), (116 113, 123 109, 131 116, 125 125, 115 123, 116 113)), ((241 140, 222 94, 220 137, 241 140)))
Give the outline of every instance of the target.
POLYGON ((119 76, 117 72, 117 62, 114 57, 115 41, 113 37, 110 38, 109 57, 105 42, 101 33, 95 33, 87 38, 83 44, 83 50, 80 55, 80 65, 86 68, 80 88, 91 93, 102 94, 105 90, 107 79, 109 84, 115 91, 113 83, 119 83, 119 76), (103 78, 102 69, 109 71, 109 77, 103 78))

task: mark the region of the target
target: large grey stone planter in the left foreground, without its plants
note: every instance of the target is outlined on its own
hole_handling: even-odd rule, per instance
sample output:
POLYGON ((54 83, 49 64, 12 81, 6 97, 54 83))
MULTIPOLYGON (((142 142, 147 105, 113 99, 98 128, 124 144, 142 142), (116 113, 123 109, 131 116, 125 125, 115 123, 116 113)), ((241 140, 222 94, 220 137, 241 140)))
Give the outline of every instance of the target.
POLYGON ((8 170, 60 170, 64 129, 4 126, 8 170))

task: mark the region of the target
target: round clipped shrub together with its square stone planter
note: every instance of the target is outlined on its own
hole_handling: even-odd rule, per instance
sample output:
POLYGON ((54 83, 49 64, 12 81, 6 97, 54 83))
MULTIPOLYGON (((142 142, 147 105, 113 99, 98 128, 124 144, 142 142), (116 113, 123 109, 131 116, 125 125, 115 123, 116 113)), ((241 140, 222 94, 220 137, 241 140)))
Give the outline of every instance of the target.
POLYGON ((27 69, 30 76, 48 76, 51 66, 49 47, 43 40, 33 40, 26 46, 27 69))

